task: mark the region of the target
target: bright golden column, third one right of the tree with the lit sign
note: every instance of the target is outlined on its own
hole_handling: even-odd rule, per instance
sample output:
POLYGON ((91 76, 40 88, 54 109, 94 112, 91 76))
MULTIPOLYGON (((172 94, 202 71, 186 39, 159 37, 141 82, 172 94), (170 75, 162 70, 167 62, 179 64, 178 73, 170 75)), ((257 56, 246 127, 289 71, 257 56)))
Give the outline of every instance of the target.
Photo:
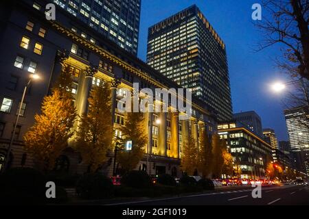
POLYGON ((171 115, 172 156, 179 158, 179 112, 171 115))

